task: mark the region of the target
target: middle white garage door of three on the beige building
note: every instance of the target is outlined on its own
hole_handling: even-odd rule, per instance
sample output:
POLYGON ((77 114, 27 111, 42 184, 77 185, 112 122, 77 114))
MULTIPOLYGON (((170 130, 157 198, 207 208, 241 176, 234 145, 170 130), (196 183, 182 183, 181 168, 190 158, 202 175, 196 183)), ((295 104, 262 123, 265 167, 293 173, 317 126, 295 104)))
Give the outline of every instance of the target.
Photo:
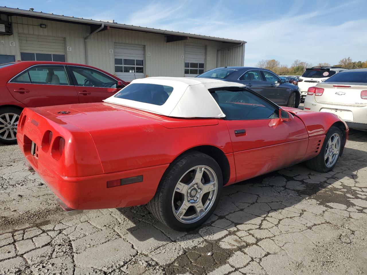
POLYGON ((125 81, 144 78, 144 45, 115 44, 115 74, 125 81))

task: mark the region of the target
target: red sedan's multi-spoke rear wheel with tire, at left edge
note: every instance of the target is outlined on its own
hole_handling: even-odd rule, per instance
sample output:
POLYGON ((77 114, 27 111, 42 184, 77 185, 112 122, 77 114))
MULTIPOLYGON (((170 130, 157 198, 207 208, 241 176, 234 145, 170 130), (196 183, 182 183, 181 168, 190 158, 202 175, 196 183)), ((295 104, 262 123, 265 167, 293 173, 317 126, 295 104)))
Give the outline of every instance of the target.
POLYGON ((0 108, 0 143, 17 143, 17 126, 21 110, 15 107, 0 108))

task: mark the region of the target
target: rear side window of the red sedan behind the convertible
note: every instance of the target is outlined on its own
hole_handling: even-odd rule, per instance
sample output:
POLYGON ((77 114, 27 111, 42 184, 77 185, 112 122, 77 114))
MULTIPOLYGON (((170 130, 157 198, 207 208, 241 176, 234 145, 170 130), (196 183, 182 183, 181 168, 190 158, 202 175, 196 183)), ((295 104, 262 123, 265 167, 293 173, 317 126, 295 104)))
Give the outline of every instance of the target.
POLYGON ((70 85, 64 66, 34 66, 28 74, 32 84, 70 85))

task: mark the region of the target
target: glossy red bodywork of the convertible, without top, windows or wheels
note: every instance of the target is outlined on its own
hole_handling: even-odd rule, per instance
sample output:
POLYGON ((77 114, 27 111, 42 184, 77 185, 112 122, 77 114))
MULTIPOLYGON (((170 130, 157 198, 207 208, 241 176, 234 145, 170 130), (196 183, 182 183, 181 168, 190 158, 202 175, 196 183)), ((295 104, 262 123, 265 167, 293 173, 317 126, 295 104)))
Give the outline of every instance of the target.
POLYGON ((17 141, 69 208, 134 206, 152 199, 168 166, 190 148, 221 150, 229 164, 224 183, 229 185, 316 156, 327 129, 342 123, 330 113, 315 113, 315 121, 309 112, 287 110, 294 113, 291 121, 172 118, 109 103, 25 108, 17 141), (246 132, 235 135, 234 129, 241 128, 246 132), (60 137, 65 139, 61 154, 60 137), (142 182, 107 188, 107 181, 140 175, 142 182))

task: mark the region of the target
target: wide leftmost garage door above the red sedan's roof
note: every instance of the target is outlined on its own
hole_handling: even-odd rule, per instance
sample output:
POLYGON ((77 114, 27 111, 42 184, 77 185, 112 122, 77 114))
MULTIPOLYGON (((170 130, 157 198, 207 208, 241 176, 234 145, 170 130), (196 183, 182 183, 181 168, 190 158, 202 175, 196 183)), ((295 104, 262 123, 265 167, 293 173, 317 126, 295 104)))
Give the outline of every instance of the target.
POLYGON ((65 62, 65 38, 39 34, 19 33, 22 61, 65 62))

